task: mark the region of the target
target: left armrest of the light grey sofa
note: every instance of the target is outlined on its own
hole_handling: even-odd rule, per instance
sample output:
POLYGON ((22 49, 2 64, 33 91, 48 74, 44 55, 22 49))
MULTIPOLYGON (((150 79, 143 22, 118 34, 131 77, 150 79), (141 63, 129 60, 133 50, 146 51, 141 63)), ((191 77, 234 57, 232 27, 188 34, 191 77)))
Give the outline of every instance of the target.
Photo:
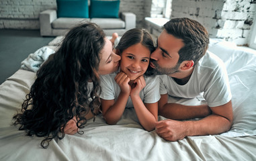
POLYGON ((41 36, 52 36, 52 21, 57 19, 57 12, 55 9, 48 9, 39 14, 40 34, 41 36))

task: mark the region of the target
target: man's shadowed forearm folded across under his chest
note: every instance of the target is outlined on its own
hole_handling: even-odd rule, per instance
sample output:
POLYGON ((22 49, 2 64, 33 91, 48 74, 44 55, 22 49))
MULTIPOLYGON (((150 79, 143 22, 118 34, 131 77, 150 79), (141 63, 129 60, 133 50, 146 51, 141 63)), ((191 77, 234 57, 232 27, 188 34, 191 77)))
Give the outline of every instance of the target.
POLYGON ((159 100, 159 115, 162 115, 168 119, 183 120, 200 118, 206 117, 212 112, 207 104, 189 106, 178 103, 167 103, 167 101, 168 95, 161 95, 161 99, 159 100))

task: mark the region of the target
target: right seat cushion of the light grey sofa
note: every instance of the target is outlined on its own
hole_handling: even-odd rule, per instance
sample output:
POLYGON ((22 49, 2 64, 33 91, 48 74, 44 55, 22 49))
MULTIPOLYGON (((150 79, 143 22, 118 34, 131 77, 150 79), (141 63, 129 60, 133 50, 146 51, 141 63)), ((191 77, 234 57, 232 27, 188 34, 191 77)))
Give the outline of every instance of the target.
POLYGON ((116 18, 92 18, 91 22, 97 23, 102 29, 119 29, 126 25, 122 19, 116 18))

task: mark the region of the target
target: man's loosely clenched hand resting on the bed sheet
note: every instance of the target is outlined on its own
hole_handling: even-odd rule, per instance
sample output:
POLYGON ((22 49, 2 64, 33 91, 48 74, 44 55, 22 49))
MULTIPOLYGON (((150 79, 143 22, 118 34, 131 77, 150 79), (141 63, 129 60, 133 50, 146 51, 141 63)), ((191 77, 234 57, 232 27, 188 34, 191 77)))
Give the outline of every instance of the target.
POLYGON ((155 127, 157 134, 167 141, 175 142, 186 137, 186 127, 183 121, 165 119, 157 121, 155 127))

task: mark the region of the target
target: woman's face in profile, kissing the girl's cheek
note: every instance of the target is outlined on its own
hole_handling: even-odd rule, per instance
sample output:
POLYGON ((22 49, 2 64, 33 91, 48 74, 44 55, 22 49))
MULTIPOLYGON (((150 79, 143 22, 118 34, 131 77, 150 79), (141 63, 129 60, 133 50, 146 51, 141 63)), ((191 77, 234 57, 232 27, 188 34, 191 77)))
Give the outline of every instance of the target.
POLYGON ((101 60, 99 62, 99 74, 110 74, 118 70, 120 56, 113 52, 113 46, 108 38, 105 38, 105 46, 101 50, 101 60))

